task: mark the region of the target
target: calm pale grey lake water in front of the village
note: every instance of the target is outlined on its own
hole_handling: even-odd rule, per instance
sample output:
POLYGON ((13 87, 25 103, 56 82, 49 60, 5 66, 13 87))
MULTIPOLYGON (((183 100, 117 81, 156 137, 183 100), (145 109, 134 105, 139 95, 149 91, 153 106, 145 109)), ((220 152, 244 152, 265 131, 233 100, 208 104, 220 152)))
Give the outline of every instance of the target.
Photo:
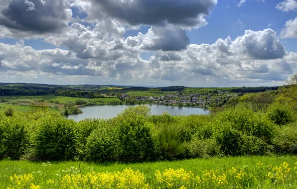
MULTIPOLYGON (((118 113, 121 113, 125 108, 135 105, 96 105, 81 107, 83 113, 69 115, 69 119, 75 121, 83 120, 86 118, 113 118, 118 113)), ((208 114, 209 111, 200 107, 177 107, 177 106, 165 106, 165 105, 147 105, 151 108, 151 114, 159 115, 164 111, 167 111, 171 115, 189 115, 189 114, 208 114)))

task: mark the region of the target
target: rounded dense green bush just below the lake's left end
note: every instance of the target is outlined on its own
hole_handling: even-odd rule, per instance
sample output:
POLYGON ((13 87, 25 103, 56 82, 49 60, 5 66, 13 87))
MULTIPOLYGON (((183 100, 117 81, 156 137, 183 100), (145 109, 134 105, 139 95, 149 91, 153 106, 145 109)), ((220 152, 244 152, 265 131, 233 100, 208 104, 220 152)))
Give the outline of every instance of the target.
POLYGON ((72 160, 76 155, 77 129, 73 120, 47 116, 39 122, 35 150, 40 160, 72 160))

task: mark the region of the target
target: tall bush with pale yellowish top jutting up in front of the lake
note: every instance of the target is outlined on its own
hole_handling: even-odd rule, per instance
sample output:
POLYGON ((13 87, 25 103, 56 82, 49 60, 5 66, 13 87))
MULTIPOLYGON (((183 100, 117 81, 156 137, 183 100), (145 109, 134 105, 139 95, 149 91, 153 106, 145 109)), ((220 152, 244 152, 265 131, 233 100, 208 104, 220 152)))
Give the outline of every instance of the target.
POLYGON ((120 160, 123 162, 142 162, 153 157, 153 140, 146 121, 149 108, 145 105, 125 109, 117 121, 120 160))

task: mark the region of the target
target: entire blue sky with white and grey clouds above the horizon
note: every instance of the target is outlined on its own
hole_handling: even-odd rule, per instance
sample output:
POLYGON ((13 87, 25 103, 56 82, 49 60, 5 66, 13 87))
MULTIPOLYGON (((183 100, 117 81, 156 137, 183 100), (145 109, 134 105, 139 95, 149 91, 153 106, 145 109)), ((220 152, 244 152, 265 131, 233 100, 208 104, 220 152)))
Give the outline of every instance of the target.
POLYGON ((279 86, 297 0, 0 0, 0 82, 279 86))

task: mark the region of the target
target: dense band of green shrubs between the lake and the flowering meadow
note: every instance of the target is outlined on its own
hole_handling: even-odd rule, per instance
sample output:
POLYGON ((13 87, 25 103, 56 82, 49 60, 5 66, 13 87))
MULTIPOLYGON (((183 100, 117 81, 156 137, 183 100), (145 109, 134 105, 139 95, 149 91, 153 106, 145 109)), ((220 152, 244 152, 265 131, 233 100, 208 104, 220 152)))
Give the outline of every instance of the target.
POLYGON ((144 162, 297 154, 296 106, 284 99, 262 99, 270 95, 260 96, 261 108, 249 101, 257 97, 243 95, 210 115, 150 115, 146 105, 129 107, 112 119, 78 122, 46 109, 25 116, 0 114, 0 159, 64 161, 79 156, 92 162, 144 162))

